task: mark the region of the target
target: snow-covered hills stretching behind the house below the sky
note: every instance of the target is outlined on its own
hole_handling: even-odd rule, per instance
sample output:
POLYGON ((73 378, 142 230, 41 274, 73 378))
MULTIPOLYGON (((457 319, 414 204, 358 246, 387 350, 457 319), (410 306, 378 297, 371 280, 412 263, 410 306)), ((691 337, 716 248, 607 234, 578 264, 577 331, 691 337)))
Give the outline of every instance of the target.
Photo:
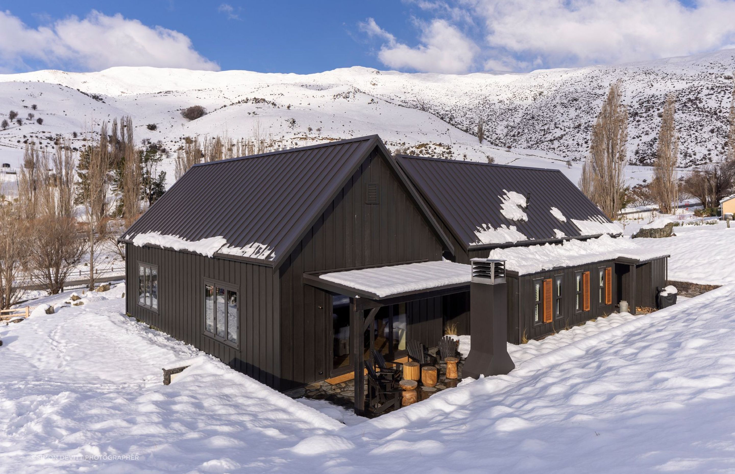
MULTIPOLYGON (((622 79, 631 161, 650 162, 658 113, 665 94, 675 91, 682 164, 691 166, 724 152, 734 69, 730 49, 529 74, 405 74, 361 67, 308 75, 128 67, 6 74, 0 75, 0 119, 17 110, 24 123, 0 131, 0 160, 17 160, 26 140, 46 146, 57 134, 72 132, 82 140, 100 121, 131 115, 137 139, 160 140, 172 151, 185 136, 245 138, 259 123, 283 147, 378 133, 393 148, 408 146, 423 155, 567 169, 567 160, 587 154, 606 89, 622 79), (190 105, 207 107, 209 114, 186 121, 180 110, 190 105), (32 120, 28 113, 35 115, 32 120), (43 124, 35 122, 38 117, 43 124), (484 144, 473 136, 480 117, 484 144)), ((567 173, 576 180, 578 166, 567 173)))

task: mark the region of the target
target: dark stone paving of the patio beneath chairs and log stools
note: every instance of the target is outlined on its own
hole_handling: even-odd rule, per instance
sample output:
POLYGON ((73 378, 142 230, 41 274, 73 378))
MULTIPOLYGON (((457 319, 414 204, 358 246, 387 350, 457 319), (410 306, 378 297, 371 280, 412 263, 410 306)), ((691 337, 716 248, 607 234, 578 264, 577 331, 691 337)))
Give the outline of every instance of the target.
MULTIPOLYGON (((433 354, 434 350, 430 350, 429 352, 433 354)), ((444 376, 444 367, 440 366, 440 364, 437 364, 435 366, 437 367, 438 372, 437 385, 434 386, 434 389, 436 390, 431 390, 430 387, 427 387, 428 390, 423 390, 423 387, 419 382, 419 399, 426 400, 426 398, 438 392, 441 392, 442 390, 455 387, 457 383, 462 380, 462 365, 464 364, 464 362, 465 360, 462 359, 459 361, 459 364, 457 364, 457 372, 459 372, 459 378, 449 380, 447 380, 444 376)), ((367 393, 367 376, 365 378, 365 392, 367 393)), ((334 385, 327 381, 320 381, 311 383, 300 389, 290 390, 289 392, 285 392, 285 395, 288 395, 292 398, 306 397, 313 400, 327 400, 331 403, 334 403, 335 405, 344 406, 345 408, 351 409, 354 407, 355 404, 355 381, 354 379, 352 379, 345 382, 336 383, 334 385)))

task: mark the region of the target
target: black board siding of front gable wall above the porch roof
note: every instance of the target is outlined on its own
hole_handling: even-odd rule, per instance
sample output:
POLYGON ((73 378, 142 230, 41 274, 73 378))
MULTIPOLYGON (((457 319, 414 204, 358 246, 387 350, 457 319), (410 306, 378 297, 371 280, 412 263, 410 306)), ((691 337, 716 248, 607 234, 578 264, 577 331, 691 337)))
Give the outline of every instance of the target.
MULTIPOLYGON (((304 284, 304 272, 437 261, 442 250, 404 185, 378 149, 373 151, 279 269, 284 383, 322 380, 331 369, 331 296, 304 284), (378 185, 379 204, 366 203, 368 184, 378 185)), ((441 330, 440 301, 432 311, 434 306, 434 324, 441 330)), ((420 333, 437 333, 424 329, 426 324, 419 322, 420 333)))

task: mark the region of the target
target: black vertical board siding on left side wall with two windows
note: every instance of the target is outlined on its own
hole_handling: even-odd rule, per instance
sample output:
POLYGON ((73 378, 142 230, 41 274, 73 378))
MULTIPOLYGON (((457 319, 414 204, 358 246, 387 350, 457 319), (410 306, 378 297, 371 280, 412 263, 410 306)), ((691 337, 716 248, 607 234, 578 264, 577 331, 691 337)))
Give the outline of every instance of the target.
POLYGON ((149 325, 212 354, 252 378, 279 386, 279 325, 273 317, 273 269, 189 252, 126 244, 126 308, 149 325), (137 263, 158 266, 158 312, 137 305, 137 263), (238 348, 204 335, 204 279, 239 289, 238 348))

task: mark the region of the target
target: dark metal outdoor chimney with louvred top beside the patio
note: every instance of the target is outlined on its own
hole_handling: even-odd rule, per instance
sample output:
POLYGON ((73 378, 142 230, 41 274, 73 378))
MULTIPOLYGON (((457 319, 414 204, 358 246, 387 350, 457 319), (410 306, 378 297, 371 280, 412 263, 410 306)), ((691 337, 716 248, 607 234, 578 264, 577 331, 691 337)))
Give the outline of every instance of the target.
POLYGON ((470 355, 462 377, 503 375, 515 368, 506 346, 508 294, 505 261, 473 258, 470 282, 470 355))

